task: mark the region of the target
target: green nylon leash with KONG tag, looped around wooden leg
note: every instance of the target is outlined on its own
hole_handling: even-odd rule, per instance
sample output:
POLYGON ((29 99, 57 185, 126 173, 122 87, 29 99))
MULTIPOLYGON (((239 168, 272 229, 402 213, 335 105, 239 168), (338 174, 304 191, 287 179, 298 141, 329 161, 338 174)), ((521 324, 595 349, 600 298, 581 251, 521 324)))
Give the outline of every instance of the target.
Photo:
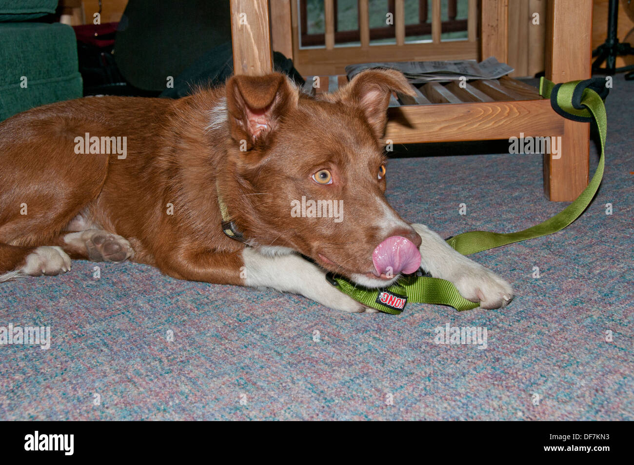
MULTIPOLYGON (((447 240, 448 244, 461 254, 469 255, 555 233, 579 218, 592 202, 603 178, 605 136, 607 133, 604 99, 607 96, 607 90, 605 81, 600 78, 556 85, 543 77, 540 81, 540 95, 550 98, 551 105, 557 113, 574 121, 590 122, 594 118, 597 123, 601 141, 601 156, 598 160, 597 171, 595 171, 588 186, 573 203, 543 223, 522 231, 513 233, 470 231, 451 237, 447 240)), ((341 277, 329 277, 329 280, 333 285, 336 283, 340 291, 363 305, 394 315, 401 313, 408 302, 450 305, 458 311, 470 310, 479 306, 478 303, 463 298, 451 282, 439 278, 404 276, 396 284, 385 289, 357 287, 341 277)))

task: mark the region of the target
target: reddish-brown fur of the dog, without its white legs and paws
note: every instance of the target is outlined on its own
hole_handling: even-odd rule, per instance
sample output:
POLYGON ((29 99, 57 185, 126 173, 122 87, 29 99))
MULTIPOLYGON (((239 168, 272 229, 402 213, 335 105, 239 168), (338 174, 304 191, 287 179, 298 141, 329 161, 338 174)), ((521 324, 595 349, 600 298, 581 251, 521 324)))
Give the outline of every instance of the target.
POLYGON ((37 246, 86 258, 85 247, 63 240, 82 229, 72 227, 79 216, 129 240, 134 261, 243 284, 245 246, 221 230, 216 181, 250 244, 289 247, 343 275, 370 273, 387 236, 420 245, 411 228, 386 234, 373 223, 373 199, 390 209, 377 178, 389 96, 409 89, 389 70, 363 72, 319 99, 281 74, 235 76, 180 100, 93 97, 15 115, 0 124, 0 273, 19 269, 37 246), (84 133, 127 136, 127 158, 75 154, 84 133), (325 168, 332 185, 311 179, 325 168), (302 195, 344 200, 346 219, 292 218, 290 202, 302 195))

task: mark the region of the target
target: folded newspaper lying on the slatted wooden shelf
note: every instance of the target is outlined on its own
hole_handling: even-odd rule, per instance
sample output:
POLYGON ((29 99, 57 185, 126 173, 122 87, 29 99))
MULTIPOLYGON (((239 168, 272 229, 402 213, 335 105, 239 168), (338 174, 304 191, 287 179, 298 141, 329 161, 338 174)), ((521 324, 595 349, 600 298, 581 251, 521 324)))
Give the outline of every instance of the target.
POLYGON ((361 63, 348 65, 346 74, 351 80, 361 71, 369 68, 391 68, 405 75, 412 84, 424 82, 459 81, 464 76, 471 79, 498 79, 513 71, 506 63, 500 63, 491 56, 481 63, 475 60, 458 60, 453 62, 391 62, 391 63, 361 63))

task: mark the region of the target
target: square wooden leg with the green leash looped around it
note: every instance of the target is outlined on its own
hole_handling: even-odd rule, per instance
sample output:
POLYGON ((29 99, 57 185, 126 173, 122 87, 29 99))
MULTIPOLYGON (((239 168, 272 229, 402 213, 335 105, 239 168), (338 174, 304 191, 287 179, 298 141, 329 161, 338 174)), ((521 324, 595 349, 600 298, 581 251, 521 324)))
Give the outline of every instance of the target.
MULTIPOLYGON (((590 77, 592 0, 549 0, 546 77, 567 82, 590 77)), ((566 119, 560 157, 544 155, 544 192, 548 199, 570 201, 588 185, 590 124, 566 119)))

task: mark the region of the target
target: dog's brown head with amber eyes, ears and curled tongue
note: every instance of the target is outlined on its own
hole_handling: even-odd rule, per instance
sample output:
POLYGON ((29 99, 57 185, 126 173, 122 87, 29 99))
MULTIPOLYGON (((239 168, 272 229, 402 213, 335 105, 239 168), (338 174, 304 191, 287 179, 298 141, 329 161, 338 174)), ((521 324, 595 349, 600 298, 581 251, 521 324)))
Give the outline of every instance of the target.
MULTIPOLYGON (((336 93, 304 95, 282 74, 226 85, 231 216, 266 250, 289 247, 367 287, 420 265, 418 234, 385 200, 380 138, 398 71, 367 70, 336 93)), ((229 203, 229 202, 228 202, 229 203)))

